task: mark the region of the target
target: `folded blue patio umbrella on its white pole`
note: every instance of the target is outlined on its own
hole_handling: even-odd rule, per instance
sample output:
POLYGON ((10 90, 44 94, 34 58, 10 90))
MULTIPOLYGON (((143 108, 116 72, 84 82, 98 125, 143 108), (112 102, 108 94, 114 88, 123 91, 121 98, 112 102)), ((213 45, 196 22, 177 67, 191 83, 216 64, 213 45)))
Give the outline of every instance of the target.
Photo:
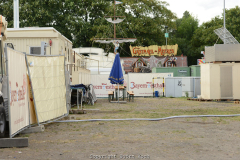
POLYGON ((124 83, 119 53, 117 53, 115 56, 113 66, 108 79, 110 80, 111 84, 118 84, 118 101, 119 101, 119 84, 124 83))

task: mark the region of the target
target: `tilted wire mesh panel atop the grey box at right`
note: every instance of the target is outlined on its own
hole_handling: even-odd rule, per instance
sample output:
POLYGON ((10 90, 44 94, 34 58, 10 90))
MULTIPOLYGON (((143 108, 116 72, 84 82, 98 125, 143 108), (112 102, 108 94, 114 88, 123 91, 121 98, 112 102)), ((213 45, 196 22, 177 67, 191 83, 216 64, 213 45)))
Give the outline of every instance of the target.
POLYGON ((224 27, 215 29, 214 33, 224 42, 224 44, 239 44, 233 35, 224 27))

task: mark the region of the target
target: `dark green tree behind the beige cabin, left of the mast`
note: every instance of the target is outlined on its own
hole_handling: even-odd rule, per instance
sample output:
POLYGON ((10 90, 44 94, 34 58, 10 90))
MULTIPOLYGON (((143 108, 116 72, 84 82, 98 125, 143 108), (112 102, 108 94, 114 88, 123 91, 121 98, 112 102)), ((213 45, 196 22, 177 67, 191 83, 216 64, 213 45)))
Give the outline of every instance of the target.
MULTIPOLYGON (((74 47, 91 46, 94 21, 104 16, 110 0, 21 0, 20 27, 54 27, 73 41, 74 47)), ((13 1, 3 0, 0 13, 13 27, 13 1)))

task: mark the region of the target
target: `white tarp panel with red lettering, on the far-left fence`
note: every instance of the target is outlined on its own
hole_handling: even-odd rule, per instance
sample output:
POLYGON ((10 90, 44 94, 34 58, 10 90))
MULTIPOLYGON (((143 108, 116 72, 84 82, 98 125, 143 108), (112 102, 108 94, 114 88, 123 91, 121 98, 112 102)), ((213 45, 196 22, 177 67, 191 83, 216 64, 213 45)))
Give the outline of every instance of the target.
POLYGON ((29 125, 28 85, 25 54, 7 48, 9 75, 10 137, 29 125))

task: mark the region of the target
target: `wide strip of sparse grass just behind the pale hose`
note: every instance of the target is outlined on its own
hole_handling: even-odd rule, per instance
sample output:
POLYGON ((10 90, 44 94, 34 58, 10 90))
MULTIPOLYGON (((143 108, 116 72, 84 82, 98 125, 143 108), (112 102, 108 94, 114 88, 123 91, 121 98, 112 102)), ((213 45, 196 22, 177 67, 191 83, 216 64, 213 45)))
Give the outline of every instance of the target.
MULTIPOLYGON (((93 108, 90 105, 87 107, 93 108)), ((94 108, 99 109, 101 112, 87 113, 78 116, 77 119, 163 118, 179 115, 229 115, 240 113, 240 107, 236 107, 232 103, 204 103, 189 101, 187 97, 174 99, 166 97, 135 98, 134 102, 127 102, 126 104, 109 103, 107 100, 100 99, 94 105, 94 108)), ((201 119, 203 122, 209 120, 207 117, 201 119)), ((240 121, 240 117, 224 117, 223 119, 240 121)), ((220 122, 228 123, 228 121, 224 120, 220 120, 220 122)))

